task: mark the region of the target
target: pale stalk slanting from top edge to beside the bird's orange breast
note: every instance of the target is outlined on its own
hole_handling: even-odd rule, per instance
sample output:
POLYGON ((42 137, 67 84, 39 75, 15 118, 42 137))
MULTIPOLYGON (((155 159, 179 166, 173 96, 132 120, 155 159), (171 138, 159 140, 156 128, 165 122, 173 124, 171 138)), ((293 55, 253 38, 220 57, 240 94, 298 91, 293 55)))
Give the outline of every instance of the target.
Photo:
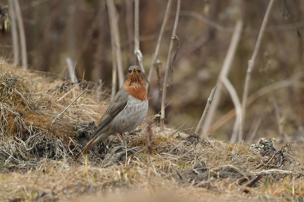
POLYGON ((148 83, 146 85, 147 93, 149 93, 149 83, 151 82, 151 78, 152 78, 152 74, 153 74, 154 68, 157 65, 157 57, 158 57, 159 50, 161 48, 161 41, 163 39, 165 28, 167 26, 167 22, 168 22, 168 19, 169 19, 171 5, 172 5, 172 0, 169 0, 168 4, 167 4, 167 7, 166 7, 165 15, 164 15, 164 21, 163 21, 163 23, 161 25, 161 31, 159 33, 159 37, 158 37, 158 40, 157 40, 155 52, 154 52, 154 55, 153 55, 152 65, 151 65, 151 68, 150 68, 150 71, 149 71, 149 75, 148 75, 148 83))

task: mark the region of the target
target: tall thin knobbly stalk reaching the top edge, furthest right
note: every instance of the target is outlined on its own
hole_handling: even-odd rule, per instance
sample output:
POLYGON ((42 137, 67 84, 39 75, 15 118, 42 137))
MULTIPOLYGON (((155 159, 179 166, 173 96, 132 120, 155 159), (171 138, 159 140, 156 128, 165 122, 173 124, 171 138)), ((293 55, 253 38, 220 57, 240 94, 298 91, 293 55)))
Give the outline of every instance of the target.
POLYGON ((255 44, 252 57, 248 61, 248 69, 247 69, 247 74, 246 74, 246 78, 245 78, 244 92, 243 92, 243 99, 242 99, 242 119, 241 119, 240 129, 239 129, 239 138, 240 139, 242 139, 243 132, 244 132, 243 130, 244 130, 244 123, 245 123, 246 105, 247 105, 247 97, 248 97, 248 91, 249 91, 250 75, 251 75, 252 69, 254 68, 255 59, 256 59, 257 53, 260 49, 261 41, 262 41, 264 31, 265 31, 265 28, 266 28, 266 24, 268 22, 268 18, 269 18, 269 15, 270 15, 270 10, 271 10, 271 7, 272 7, 274 2, 275 2, 274 0, 270 0, 270 2, 268 4, 268 7, 267 7, 267 10, 266 10, 266 13, 265 13, 262 25, 261 25, 259 35, 257 37, 257 43, 255 44))

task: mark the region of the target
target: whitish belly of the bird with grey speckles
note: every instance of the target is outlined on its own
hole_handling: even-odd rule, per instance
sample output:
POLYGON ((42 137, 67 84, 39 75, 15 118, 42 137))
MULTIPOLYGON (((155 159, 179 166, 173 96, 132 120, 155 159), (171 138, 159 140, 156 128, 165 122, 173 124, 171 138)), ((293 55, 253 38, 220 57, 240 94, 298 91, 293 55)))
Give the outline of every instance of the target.
POLYGON ((143 120, 147 116, 148 101, 140 101, 131 95, 129 95, 128 99, 126 108, 119 112, 109 123, 112 131, 117 133, 133 131, 143 123, 143 120))

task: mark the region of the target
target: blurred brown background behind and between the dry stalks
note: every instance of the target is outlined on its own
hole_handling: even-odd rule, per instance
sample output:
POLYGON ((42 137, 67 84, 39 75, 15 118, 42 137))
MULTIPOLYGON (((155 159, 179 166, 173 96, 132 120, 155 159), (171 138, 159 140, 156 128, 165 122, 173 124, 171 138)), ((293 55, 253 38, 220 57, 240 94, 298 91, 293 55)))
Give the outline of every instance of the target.
MULTIPOLYGON (((1 0, 0 58, 14 63, 11 29, 5 31, 5 5, 1 0)), ((16 0, 12 0, 12 2, 16 0)), ((143 66, 149 72, 168 1, 140 0, 140 50, 143 66)), ((134 55, 134 1, 114 0, 119 19, 124 76, 130 65, 138 64, 134 55)), ((176 35, 179 51, 170 70, 167 90, 166 124, 191 131, 196 127, 209 94, 216 84, 237 19, 244 26, 229 73, 229 80, 242 99, 244 81, 268 0, 183 0, 176 35), (173 72, 173 74, 172 74, 173 72)), ((105 0, 19 0, 29 69, 67 75, 67 57, 76 62, 78 78, 111 89, 112 46, 109 15, 105 0)), ((161 90, 168 57, 177 1, 173 1, 159 53, 159 76, 154 71, 149 93, 149 115, 161 110, 161 90)), ((257 95, 247 107, 245 140, 278 137, 273 97, 278 105, 285 137, 304 141, 304 1, 276 0, 270 13, 261 48, 251 73, 249 96, 283 80, 299 85, 275 88, 257 95), (263 70, 263 71, 262 71, 263 70), (269 81, 268 81, 269 78, 269 81), (249 138, 250 137, 250 138, 249 138), (249 138, 249 139, 248 139, 249 138)), ((12 15, 11 15, 12 16, 12 15)), ((20 45, 19 45, 19 50, 20 45)), ((176 43, 173 54, 176 52, 176 43)), ((21 54, 19 58, 21 65, 21 54)), ((212 137, 229 140, 235 117, 224 118, 234 105, 223 88, 219 107, 212 121, 212 137)), ((192 131, 193 132, 193 131, 192 131)))

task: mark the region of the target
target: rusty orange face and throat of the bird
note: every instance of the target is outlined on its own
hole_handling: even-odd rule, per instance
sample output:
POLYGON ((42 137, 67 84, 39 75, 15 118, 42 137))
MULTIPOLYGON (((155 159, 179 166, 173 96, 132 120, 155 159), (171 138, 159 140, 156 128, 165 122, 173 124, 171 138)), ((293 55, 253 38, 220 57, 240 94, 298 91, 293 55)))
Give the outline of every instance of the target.
POLYGON ((138 73, 131 73, 124 84, 125 91, 140 101, 148 100, 145 83, 138 73))

